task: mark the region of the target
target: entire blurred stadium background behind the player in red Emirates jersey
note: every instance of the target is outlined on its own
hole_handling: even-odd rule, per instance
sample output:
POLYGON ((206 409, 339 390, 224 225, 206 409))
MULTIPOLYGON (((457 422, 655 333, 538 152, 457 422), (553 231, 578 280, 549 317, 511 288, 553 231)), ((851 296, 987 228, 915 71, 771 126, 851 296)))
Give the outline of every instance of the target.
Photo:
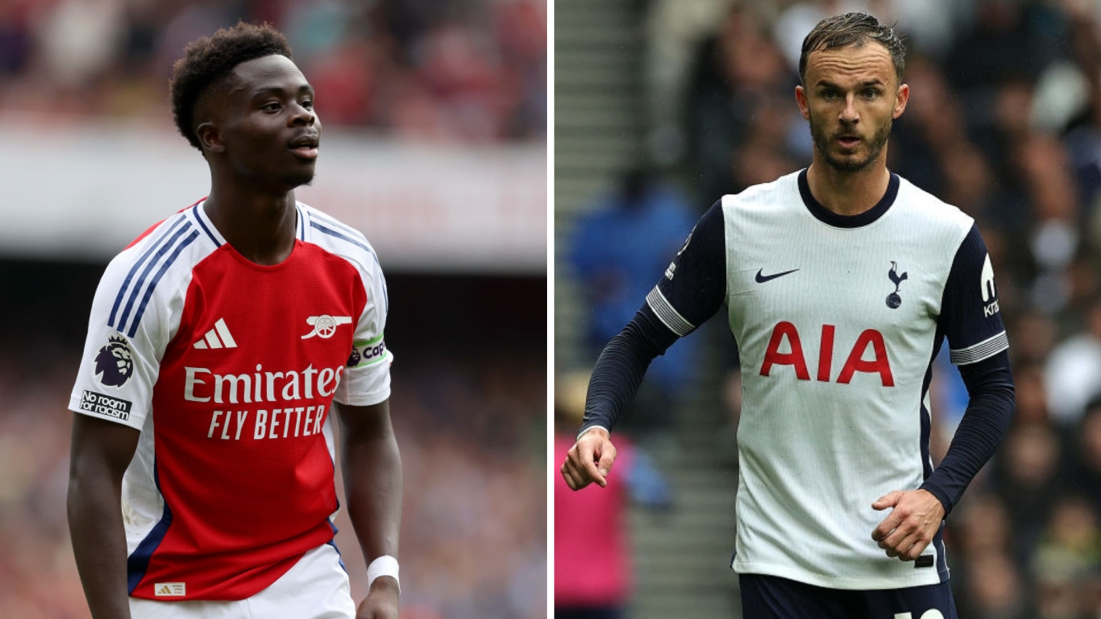
POLYGON ((299 199, 362 230, 388 275, 402 617, 544 617, 539 0, 0 1, 0 617, 88 616, 65 488, 91 295, 115 252, 209 187, 167 77, 238 19, 286 32, 317 89, 325 140, 299 199))

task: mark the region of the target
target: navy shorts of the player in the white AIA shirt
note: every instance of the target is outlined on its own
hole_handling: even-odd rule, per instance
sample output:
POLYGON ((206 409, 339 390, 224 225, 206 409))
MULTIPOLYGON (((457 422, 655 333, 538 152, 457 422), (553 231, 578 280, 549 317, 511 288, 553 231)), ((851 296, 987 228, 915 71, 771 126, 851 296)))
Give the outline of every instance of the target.
POLYGON ((827 589, 741 574, 744 619, 958 619, 948 583, 903 589, 827 589))

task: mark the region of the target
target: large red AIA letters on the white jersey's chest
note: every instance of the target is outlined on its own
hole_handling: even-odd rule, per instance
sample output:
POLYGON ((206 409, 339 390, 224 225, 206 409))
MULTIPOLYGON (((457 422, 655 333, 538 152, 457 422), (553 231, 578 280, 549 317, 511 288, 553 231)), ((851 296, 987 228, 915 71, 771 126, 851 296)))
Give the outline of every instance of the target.
MULTIPOLYGON (((830 381, 833 363, 833 333, 836 330, 837 327, 833 325, 822 325, 821 344, 818 346, 818 371, 815 377, 819 382, 830 381)), ((781 322, 772 329, 768 349, 765 350, 764 362, 761 365, 761 376, 768 376, 773 366, 792 366, 795 369, 796 378, 810 380, 807 358, 803 355, 803 343, 799 340, 799 332, 795 325, 787 321, 781 322), (781 348, 787 349, 788 352, 781 352, 781 348)), ((837 382, 848 384, 857 372, 877 373, 883 387, 894 387, 894 374, 891 372, 891 361, 887 359, 887 347, 883 341, 883 334, 880 332, 864 329, 857 337, 857 341, 852 345, 852 350, 841 368, 841 373, 837 377, 837 382), (869 348, 872 350, 871 358, 865 359, 869 348)))

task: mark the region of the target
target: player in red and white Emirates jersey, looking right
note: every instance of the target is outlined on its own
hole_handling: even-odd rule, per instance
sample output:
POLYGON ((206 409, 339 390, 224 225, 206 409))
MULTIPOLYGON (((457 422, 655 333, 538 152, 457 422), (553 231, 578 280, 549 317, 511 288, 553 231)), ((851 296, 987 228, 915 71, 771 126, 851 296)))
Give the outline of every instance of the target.
POLYGON ((92 616, 396 618, 386 286, 360 232, 294 197, 318 156, 313 88, 279 32, 242 23, 185 50, 172 99, 209 196, 108 265, 69 400, 92 616), (334 412, 345 507, 384 576, 358 615, 333 545, 334 412))

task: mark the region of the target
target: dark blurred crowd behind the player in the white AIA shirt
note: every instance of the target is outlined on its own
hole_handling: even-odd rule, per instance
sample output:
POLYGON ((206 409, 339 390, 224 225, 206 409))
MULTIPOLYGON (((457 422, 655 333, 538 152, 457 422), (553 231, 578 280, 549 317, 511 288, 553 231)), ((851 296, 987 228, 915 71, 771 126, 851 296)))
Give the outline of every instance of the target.
MULTIPOLYGON (((644 13, 648 162, 694 218, 809 163, 794 87, 819 19, 865 10, 904 34, 911 98, 889 167, 978 221, 1016 379, 1005 442, 949 519, 960 616, 1101 617, 1101 3, 716 4, 653 0, 644 13)), ((967 392, 947 359, 936 363, 939 458, 967 392)))

